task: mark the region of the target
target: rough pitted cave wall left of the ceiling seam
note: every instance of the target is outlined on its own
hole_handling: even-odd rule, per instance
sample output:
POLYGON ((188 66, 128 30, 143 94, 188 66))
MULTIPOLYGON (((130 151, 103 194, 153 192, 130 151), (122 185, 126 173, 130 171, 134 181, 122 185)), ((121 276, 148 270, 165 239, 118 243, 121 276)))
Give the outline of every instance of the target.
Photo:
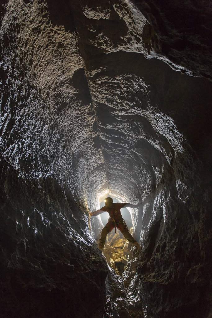
POLYGON ((72 23, 69 31, 52 24, 42 1, 5 5, 1 315, 103 315, 107 266, 89 232, 86 195, 95 202, 105 177, 76 33, 72 23))

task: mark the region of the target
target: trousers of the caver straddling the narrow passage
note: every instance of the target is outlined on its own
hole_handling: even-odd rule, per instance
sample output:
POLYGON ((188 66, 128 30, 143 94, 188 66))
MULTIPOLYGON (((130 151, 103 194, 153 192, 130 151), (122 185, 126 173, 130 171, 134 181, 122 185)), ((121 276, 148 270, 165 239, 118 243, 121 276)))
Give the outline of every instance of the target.
POLYGON ((136 242, 135 239, 133 239, 132 235, 127 229, 127 225, 125 224, 124 219, 122 218, 117 224, 114 224, 113 221, 108 221, 108 223, 105 225, 104 229, 102 230, 102 236, 99 239, 99 248, 102 250, 105 245, 107 234, 110 233, 115 225, 118 227, 118 229, 121 231, 121 233, 124 235, 125 239, 129 241, 131 244, 136 242))

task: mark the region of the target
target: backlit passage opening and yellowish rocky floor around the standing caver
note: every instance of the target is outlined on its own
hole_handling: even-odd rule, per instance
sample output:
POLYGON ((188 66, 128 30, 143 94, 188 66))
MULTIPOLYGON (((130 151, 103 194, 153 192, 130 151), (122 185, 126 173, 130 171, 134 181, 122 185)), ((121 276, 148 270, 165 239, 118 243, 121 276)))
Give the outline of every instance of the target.
MULTIPOLYGON (((105 197, 113 198, 113 203, 123 203, 128 200, 121 197, 116 191, 107 189, 104 195, 99 198, 99 206, 105 206, 105 197), (108 191, 108 193, 107 193, 108 191)), ((138 209, 122 208, 121 214, 125 219, 128 229, 132 234, 134 232, 130 209, 138 215, 138 209)), ((140 211, 142 212, 142 210, 140 211)), ((97 226, 101 232, 103 226, 108 222, 109 214, 107 212, 101 213, 93 218, 93 227, 97 226), (98 219, 101 219, 102 226, 99 226, 98 219)), ((96 243, 99 245, 99 238, 101 234, 96 237, 96 243)), ((140 288, 139 278, 136 273, 136 266, 139 262, 140 247, 132 245, 125 239, 123 234, 116 229, 108 233, 102 255, 108 264, 109 286, 107 285, 109 294, 117 308, 120 317, 138 316, 142 313, 142 305, 140 302, 140 288), (111 288, 111 285, 113 288, 111 288), (115 287, 115 290, 113 290, 115 287), (133 291, 133 292, 132 292, 133 291)))

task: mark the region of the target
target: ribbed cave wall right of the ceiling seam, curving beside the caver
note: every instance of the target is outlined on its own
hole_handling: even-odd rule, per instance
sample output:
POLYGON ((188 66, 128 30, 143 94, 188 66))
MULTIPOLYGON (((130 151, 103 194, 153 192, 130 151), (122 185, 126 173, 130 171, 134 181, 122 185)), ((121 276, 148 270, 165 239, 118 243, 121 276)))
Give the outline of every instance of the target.
POLYGON ((100 16, 99 7, 88 14, 82 3, 73 12, 108 183, 129 202, 144 199, 143 214, 142 207, 132 212, 135 238, 144 244, 137 269, 144 314, 207 316, 210 208, 202 198, 211 182, 211 83, 145 59, 133 37, 120 44, 114 25, 134 20, 122 2, 107 17, 109 6, 100 16))

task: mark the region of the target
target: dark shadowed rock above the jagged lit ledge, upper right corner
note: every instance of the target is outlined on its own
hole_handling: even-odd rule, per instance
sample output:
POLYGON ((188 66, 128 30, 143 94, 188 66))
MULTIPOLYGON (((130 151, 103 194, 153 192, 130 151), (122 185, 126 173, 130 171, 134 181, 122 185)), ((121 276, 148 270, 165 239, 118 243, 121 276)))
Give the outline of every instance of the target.
POLYGON ((133 0, 153 29, 146 32, 155 52, 197 76, 212 79, 211 1, 133 0))

